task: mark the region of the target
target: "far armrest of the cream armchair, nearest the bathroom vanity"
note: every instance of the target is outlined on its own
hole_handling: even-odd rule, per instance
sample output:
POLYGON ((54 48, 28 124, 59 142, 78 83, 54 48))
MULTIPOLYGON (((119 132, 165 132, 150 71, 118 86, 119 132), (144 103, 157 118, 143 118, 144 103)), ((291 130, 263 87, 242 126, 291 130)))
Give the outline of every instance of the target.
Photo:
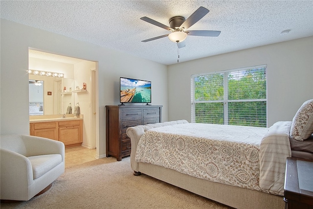
POLYGON ((26 148, 26 157, 36 155, 60 154, 65 160, 65 145, 61 141, 42 137, 22 135, 26 148))

